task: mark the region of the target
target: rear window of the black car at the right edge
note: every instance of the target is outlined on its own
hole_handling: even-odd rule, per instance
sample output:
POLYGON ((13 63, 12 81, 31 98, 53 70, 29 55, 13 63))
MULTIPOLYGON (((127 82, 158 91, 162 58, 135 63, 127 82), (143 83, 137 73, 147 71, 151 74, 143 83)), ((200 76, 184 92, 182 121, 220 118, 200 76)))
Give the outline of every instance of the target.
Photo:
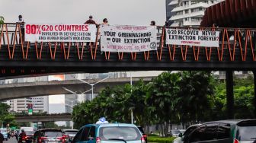
POLYGON ((239 141, 256 140, 256 126, 238 126, 237 137, 239 141))

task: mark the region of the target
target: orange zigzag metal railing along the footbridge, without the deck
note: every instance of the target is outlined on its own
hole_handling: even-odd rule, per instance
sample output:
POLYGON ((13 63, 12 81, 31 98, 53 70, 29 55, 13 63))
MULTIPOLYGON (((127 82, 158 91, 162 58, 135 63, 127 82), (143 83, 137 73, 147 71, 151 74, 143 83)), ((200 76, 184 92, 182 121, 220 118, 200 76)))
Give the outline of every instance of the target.
MULTIPOLYGON (((158 62, 254 62, 255 29, 219 27, 168 27, 220 32, 219 47, 165 44, 165 28, 157 27, 158 47, 150 52, 101 52, 100 33, 94 43, 30 43, 23 41, 21 24, 0 25, 0 61, 158 61, 158 62)), ((98 27, 98 31, 100 31, 98 27)))

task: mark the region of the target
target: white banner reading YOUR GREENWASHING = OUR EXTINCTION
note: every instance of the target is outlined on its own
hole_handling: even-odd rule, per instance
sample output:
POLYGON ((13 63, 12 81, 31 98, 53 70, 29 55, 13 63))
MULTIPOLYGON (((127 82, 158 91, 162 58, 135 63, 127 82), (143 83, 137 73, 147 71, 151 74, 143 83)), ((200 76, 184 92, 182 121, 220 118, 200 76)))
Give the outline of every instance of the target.
POLYGON ((101 25, 101 51, 143 52, 156 50, 156 27, 101 25))

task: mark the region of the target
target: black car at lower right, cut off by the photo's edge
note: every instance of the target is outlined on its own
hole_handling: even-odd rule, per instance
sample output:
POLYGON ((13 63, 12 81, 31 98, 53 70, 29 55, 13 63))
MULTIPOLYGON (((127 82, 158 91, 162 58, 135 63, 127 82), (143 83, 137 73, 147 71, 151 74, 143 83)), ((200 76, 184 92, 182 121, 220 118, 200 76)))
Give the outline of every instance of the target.
POLYGON ((206 122, 183 140, 184 143, 255 143, 256 119, 206 122))

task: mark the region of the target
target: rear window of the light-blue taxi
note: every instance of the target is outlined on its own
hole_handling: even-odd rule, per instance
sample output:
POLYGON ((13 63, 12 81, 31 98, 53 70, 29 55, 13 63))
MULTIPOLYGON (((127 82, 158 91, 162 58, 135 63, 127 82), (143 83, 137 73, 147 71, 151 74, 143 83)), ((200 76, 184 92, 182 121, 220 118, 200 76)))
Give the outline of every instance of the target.
POLYGON ((101 127, 99 131, 99 137, 103 141, 112 139, 123 139, 126 141, 135 141, 141 139, 139 129, 128 126, 110 126, 101 127))

